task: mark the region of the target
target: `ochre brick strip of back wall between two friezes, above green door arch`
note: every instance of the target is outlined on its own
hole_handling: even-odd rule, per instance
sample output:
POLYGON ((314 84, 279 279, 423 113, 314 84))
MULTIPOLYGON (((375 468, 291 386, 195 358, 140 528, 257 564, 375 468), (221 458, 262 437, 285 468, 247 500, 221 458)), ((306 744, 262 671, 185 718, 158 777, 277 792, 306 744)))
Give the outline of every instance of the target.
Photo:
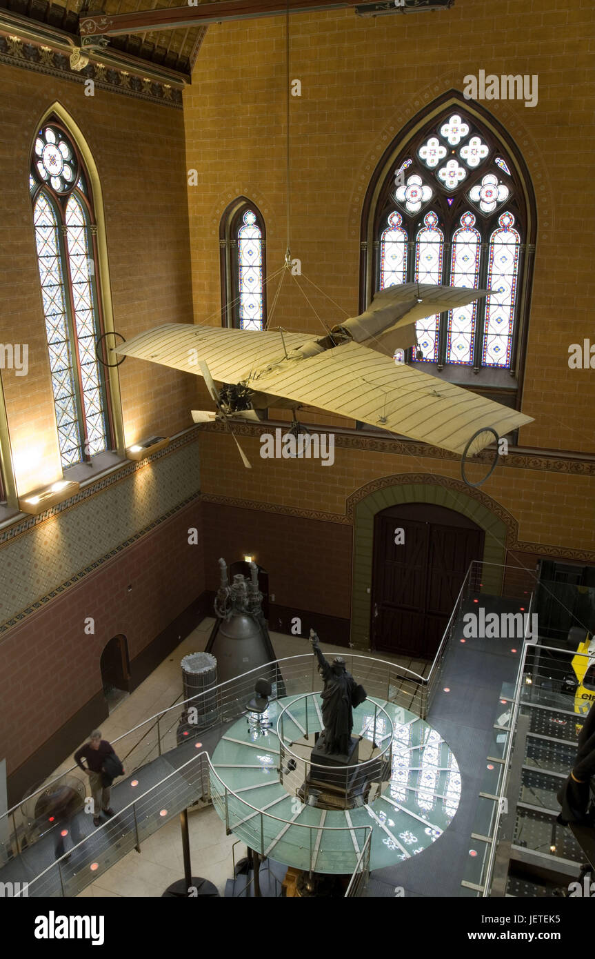
MULTIPOLYGON (((455 460, 335 446, 333 465, 323 466, 314 459, 263 459, 258 439, 241 436, 240 440, 251 470, 241 466, 230 436, 200 434, 204 494, 344 516, 348 497, 379 477, 429 473, 461 479, 460 463, 455 460)), ((469 464, 467 470, 471 481, 486 472, 485 464, 469 464)), ((510 467, 503 458, 481 490, 492 498, 494 509, 501 504, 512 514, 520 541, 535 544, 536 549, 542 544, 592 552, 592 485, 585 476, 510 467)))

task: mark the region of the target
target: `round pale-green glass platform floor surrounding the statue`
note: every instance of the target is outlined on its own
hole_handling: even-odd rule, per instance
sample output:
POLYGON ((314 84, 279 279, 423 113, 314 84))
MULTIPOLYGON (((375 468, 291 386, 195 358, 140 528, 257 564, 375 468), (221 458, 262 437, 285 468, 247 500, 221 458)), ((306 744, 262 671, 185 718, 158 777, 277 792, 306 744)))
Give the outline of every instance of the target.
POLYGON ((318 696, 287 696, 263 714, 269 728, 242 716, 221 737, 212 756, 211 796, 226 827, 251 849, 317 873, 353 873, 369 836, 370 869, 423 853, 459 805, 461 775, 448 744, 419 716, 369 696, 354 710, 353 735, 362 737, 360 755, 366 759, 372 754, 375 717, 378 746, 391 735, 392 724, 386 781, 355 808, 304 805, 296 794, 295 771, 289 774, 280 762, 275 727, 284 710, 284 736, 293 724, 295 750, 309 748, 322 729, 320 702, 318 696))

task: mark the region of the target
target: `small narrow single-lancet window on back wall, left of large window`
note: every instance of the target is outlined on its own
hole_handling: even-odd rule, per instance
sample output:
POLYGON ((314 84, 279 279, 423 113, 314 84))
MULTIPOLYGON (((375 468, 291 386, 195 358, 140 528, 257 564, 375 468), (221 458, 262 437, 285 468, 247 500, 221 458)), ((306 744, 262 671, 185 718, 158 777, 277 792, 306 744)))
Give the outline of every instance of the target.
POLYGON ((263 330, 266 325, 266 237, 256 203, 240 197, 225 210, 219 229, 222 325, 263 330))

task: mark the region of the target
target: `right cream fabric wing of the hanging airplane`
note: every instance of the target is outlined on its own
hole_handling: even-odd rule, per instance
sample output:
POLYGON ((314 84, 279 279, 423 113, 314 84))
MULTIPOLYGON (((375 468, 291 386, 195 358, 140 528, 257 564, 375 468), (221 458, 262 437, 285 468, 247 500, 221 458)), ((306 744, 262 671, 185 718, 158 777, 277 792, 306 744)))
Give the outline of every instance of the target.
MULTIPOLYGON (((257 388, 458 454, 477 430, 492 427, 504 436, 533 419, 358 343, 284 363, 259 379, 257 388)), ((469 456, 492 442, 490 433, 482 433, 469 456)))

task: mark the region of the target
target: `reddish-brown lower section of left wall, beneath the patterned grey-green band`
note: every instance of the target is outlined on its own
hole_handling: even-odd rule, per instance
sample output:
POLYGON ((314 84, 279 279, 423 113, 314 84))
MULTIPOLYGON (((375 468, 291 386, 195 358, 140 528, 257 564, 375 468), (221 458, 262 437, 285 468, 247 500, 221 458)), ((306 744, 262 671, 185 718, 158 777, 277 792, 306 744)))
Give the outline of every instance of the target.
POLYGON ((9 775, 101 692, 105 643, 124 634, 132 662, 203 590, 196 501, 9 630, 0 639, 0 755, 9 775), (188 542, 191 526, 197 545, 188 542), (94 635, 84 631, 88 617, 94 635))

